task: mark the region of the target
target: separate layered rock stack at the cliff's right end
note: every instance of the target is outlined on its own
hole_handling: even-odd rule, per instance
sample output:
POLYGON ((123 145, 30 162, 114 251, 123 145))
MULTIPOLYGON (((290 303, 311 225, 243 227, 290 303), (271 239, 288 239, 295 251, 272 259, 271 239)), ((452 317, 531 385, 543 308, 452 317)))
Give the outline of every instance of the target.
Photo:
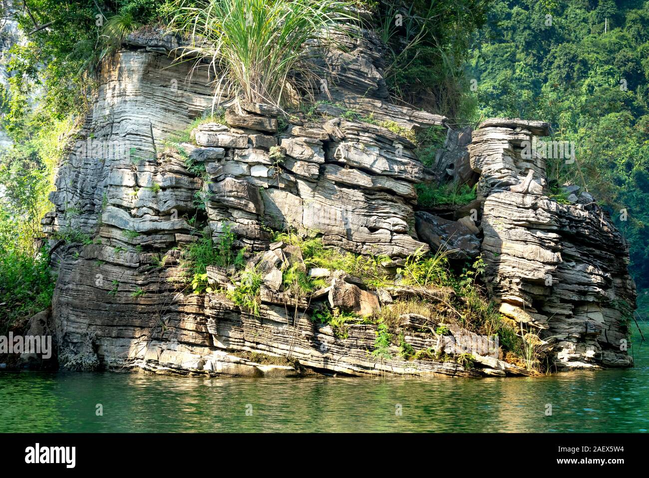
POLYGON ((565 205, 544 195, 544 158, 521 154, 521 142, 539 134, 546 123, 517 119, 489 119, 473 132, 487 286, 502 314, 556 343, 557 366, 629 366, 628 245, 592 197, 565 205))

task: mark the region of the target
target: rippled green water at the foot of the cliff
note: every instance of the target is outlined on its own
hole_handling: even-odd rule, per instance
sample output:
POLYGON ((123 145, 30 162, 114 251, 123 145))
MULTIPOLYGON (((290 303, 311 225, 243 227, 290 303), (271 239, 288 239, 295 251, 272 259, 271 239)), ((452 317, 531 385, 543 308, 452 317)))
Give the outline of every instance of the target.
POLYGON ((633 369, 523 379, 4 372, 0 431, 646 432, 649 344, 634 343, 633 369))

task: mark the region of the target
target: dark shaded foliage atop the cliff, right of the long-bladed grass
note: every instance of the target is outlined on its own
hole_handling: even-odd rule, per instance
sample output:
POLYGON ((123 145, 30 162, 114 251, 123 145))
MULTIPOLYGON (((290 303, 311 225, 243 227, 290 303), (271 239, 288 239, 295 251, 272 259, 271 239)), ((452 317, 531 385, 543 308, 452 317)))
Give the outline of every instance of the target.
POLYGON ((465 61, 488 0, 389 0, 376 21, 387 44, 384 76, 393 95, 451 118, 471 115, 465 61), (402 21, 398 22, 397 14, 402 21))

